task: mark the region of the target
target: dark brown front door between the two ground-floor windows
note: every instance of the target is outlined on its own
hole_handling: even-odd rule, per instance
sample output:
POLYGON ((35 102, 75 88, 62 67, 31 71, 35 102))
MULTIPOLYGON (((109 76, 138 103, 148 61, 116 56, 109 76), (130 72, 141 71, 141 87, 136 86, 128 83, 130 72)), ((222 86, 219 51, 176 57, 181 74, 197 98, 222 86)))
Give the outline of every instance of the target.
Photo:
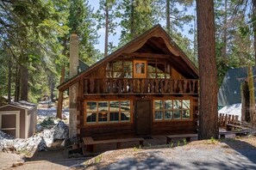
POLYGON ((135 105, 135 112, 137 135, 150 134, 152 122, 151 100, 137 100, 135 105))

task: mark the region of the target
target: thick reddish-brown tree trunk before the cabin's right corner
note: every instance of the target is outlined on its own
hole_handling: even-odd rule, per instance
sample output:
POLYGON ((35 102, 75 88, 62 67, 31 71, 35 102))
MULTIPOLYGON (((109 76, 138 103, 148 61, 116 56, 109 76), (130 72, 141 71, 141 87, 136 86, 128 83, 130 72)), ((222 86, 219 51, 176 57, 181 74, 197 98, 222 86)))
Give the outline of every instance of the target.
POLYGON ((213 0, 197 0, 197 40, 200 76, 199 139, 218 138, 217 72, 213 0))

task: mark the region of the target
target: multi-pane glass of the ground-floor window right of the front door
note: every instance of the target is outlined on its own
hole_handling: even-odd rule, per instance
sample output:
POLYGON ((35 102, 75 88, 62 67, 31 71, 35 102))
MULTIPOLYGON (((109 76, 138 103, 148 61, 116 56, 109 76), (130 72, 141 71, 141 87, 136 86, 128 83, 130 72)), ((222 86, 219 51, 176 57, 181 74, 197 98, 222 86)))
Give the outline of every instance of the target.
POLYGON ((190 119, 190 100, 153 100, 153 114, 155 121, 190 119))

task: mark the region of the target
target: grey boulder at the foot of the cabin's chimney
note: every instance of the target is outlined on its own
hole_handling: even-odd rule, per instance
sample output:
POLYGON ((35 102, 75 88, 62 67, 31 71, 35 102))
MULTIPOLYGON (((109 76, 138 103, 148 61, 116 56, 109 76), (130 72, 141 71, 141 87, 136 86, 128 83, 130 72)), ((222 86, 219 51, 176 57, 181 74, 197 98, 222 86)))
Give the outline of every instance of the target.
POLYGON ((67 139, 68 138, 68 126, 63 122, 59 121, 59 123, 53 127, 53 139, 67 139))

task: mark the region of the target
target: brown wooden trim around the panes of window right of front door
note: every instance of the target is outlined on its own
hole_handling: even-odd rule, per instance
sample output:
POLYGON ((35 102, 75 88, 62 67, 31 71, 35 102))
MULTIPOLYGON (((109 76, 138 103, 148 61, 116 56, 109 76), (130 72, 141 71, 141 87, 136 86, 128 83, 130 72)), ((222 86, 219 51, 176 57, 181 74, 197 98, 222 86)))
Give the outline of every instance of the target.
POLYGON ((193 105, 192 105, 192 100, 191 99, 186 99, 186 98, 184 98, 184 99, 168 99, 168 98, 165 98, 165 99, 153 99, 153 105, 152 105, 152 107, 153 107, 153 112, 152 112, 152 116, 153 116, 153 122, 155 122, 155 123, 157 123, 157 122, 180 122, 180 121, 184 121, 184 122, 186 122, 186 121, 192 121, 193 120, 193 105), (163 113, 163 118, 162 119, 155 119, 155 111, 158 111, 157 109, 155 109, 154 108, 154 101, 155 100, 162 100, 162 101, 164 101, 164 103, 165 103, 165 100, 172 100, 172 109, 167 109, 166 111, 172 111, 172 119, 165 119, 165 106, 163 106, 163 109, 162 110, 160 110, 160 111, 163 111, 164 113, 163 113), (173 100, 190 100, 190 109, 173 109, 173 100), (190 118, 182 118, 182 112, 181 112, 181 118, 178 118, 178 119, 174 119, 173 118, 173 114, 174 114, 174 112, 173 111, 175 111, 175 110, 190 110, 190 118))

